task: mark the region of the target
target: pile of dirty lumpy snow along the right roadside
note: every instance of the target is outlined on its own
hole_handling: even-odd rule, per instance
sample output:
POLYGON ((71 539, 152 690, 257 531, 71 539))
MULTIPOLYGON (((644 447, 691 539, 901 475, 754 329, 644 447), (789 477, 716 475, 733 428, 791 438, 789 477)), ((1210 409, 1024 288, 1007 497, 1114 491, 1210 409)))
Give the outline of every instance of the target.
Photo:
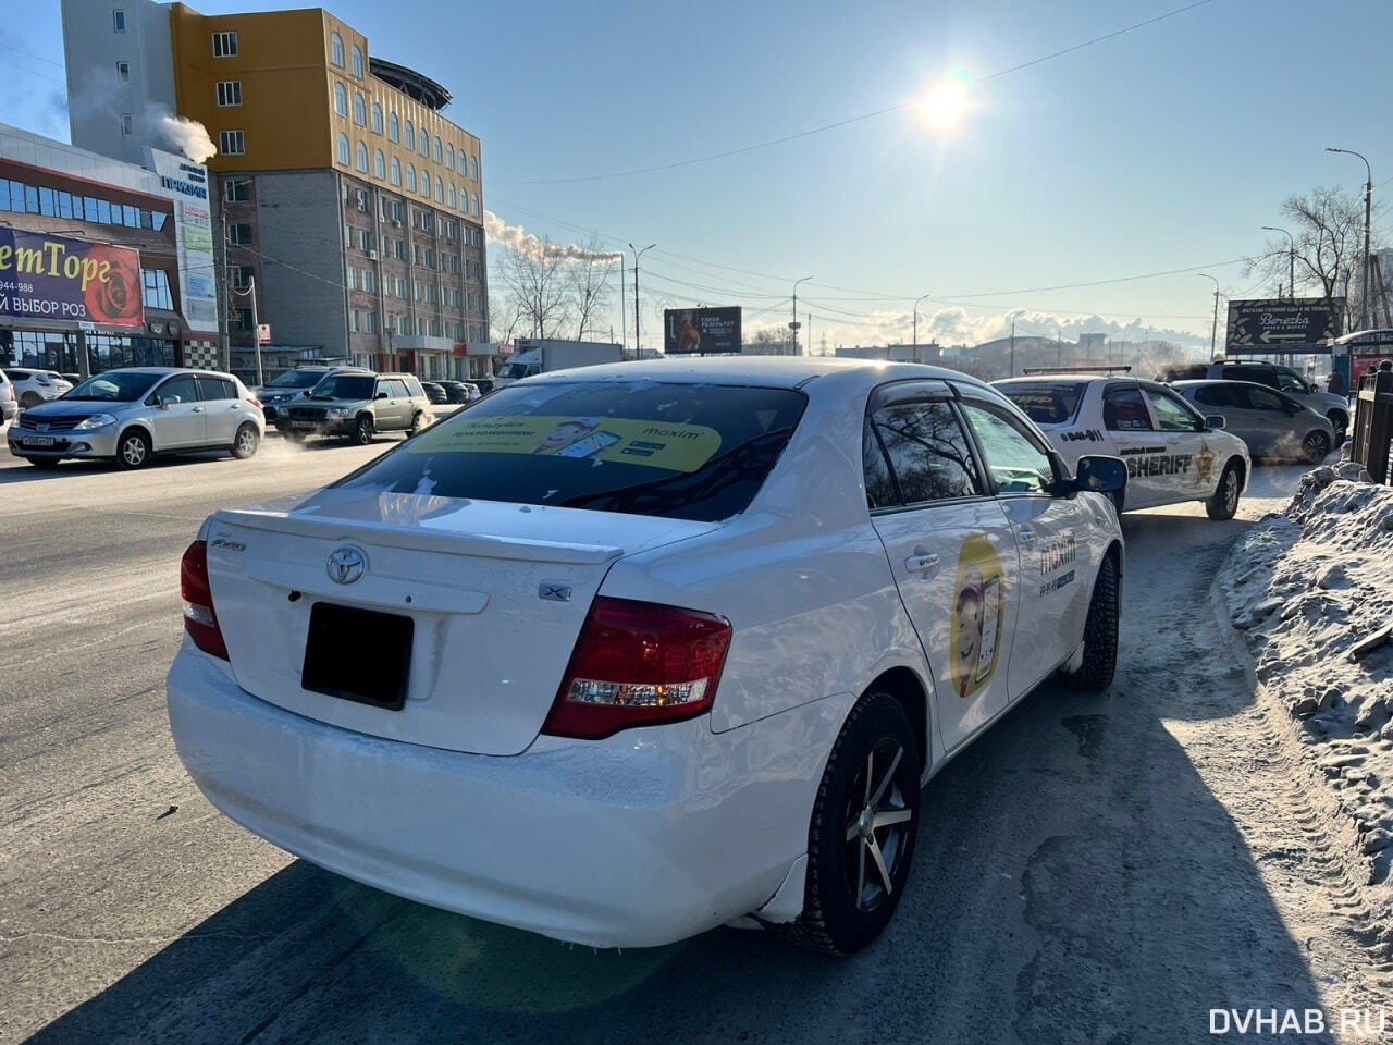
POLYGON ((1217 585, 1258 681, 1348 812, 1371 882, 1393 869, 1393 488, 1348 463, 1301 479, 1238 541, 1217 585))

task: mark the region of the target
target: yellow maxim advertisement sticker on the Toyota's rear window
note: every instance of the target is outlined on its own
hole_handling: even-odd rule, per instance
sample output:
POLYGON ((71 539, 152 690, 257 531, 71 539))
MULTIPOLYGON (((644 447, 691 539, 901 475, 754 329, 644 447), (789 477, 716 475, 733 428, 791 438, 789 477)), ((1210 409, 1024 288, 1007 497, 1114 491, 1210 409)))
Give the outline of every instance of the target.
POLYGON ((614 417, 510 415, 460 418, 429 428, 408 453, 483 453, 582 457, 694 472, 720 450, 720 432, 705 425, 614 417))

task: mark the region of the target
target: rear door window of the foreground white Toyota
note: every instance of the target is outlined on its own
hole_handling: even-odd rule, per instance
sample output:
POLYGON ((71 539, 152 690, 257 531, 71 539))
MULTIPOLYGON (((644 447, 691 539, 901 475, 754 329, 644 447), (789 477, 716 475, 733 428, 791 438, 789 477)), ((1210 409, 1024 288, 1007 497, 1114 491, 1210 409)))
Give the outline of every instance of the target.
MULTIPOLYGON (((981 493, 967 436, 947 403, 883 407, 871 417, 869 426, 885 447, 901 503, 981 493)), ((866 482, 869 496, 869 475, 866 482)))

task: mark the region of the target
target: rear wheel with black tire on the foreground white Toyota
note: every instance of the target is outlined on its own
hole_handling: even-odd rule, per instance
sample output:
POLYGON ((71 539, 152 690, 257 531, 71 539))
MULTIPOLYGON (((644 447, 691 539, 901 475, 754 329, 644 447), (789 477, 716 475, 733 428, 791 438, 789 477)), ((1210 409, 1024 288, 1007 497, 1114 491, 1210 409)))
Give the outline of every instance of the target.
POLYGON ((841 726, 822 773, 808 825, 802 913, 772 927, 784 939, 853 954, 890 924, 919 832, 919 771, 904 709, 887 692, 866 692, 841 726), (889 822, 876 826, 880 818, 889 822))

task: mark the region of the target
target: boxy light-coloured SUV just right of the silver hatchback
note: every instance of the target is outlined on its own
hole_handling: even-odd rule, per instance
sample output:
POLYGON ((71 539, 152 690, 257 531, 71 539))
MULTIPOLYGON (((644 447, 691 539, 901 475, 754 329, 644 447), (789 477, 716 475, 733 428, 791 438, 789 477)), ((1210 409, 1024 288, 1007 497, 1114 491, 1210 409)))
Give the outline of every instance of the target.
POLYGON ((376 432, 415 435, 432 421, 430 400, 414 373, 351 371, 329 375, 308 397, 281 407, 276 431, 297 442, 313 435, 366 444, 376 432))

